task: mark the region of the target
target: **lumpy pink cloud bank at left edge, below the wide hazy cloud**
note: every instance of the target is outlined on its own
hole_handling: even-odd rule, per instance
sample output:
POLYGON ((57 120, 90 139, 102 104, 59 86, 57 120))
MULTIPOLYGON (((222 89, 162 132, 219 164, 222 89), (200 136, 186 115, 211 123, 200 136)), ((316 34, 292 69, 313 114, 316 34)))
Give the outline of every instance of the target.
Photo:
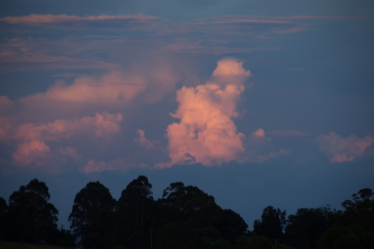
POLYGON ((33 165, 41 167, 46 160, 61 157, 73 158, 75 161, 82 159, 76 148, 56 148, 47 144, 68 140, 72 136, 86 134, 96 138, 108 140, 120 130, 119 123, 123 116, 120 113, 96 113, 95 116, 86 116, 81 119, 58 119, 49 123, 25 123, 17 125, 11 119, 0 119, 0 141, 18 141, 16 151, 12 153, 12 164, 17 166, 33 165))

